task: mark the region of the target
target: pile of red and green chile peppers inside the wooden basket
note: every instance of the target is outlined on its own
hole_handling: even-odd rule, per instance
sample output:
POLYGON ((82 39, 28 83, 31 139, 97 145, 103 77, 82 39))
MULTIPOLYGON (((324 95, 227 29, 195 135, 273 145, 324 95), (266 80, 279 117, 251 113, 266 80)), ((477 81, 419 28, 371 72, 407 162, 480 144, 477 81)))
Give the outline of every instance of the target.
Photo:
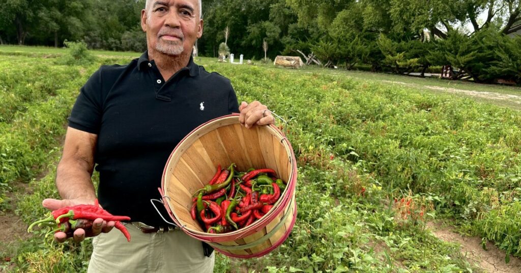
POLYGON ((267 214, 286 189, 269 168, 235 170, 232 163, 217 172, 208 185, 197 190, 191 216, 209 233, 226 233, 247 227, 267 214))

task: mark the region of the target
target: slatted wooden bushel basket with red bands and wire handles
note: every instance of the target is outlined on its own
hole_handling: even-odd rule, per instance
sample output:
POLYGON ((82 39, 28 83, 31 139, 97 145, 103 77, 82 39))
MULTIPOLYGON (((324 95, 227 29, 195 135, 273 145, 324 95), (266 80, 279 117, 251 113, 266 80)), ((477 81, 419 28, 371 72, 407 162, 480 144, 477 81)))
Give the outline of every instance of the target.
POLYGON ((274 250, 289 236, 296 219, 296 161, 286 137, 274 126, 246 129, 239 115, 222 116, 195 128, 172 151, 163 172, 163 203, 173 222, 189 236, 231 256, 251 258, 274 250), (190 216, 192 194, 204 187, 217 165, 237 170, 271 168, 286 189, 274 208, 252 225, 225 234, 206 233, 190 216))

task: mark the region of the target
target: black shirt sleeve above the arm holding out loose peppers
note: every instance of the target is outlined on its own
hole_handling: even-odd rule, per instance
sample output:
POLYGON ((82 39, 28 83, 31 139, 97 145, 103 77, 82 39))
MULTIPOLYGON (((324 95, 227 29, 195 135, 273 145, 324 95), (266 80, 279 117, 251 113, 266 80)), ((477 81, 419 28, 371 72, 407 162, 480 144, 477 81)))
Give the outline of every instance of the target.
POLYGON ((69 116, 69 127, 98 134, 103 115, 102 107, 102 76, 101 68, 81 87, 80 95, 76 99, 69 116))

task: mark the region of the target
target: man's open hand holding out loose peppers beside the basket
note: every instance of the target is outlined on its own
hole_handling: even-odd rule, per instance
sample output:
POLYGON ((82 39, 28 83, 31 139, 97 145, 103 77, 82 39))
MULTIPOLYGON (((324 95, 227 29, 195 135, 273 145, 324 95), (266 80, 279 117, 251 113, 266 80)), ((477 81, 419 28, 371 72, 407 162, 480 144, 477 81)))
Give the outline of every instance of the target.
MULTIPOLYGON (((57 210, 60 207, 64 206, 75 206, 75 205, 94 205, 93 200, 86 200, 86 199, 65 199, 65 200, 57 200, 57 199, 45 199, 42 202, 42 205, 51 211, 57 210)), ((116 222, 109 221, 106 222, 102 218, 97 218, 92 223, 92 229, 85 231, 82 228, 78 228, 74 231, 74 234, 72 236, 72 239, 76 242, 81 242, 85 239, 85 237, 93 237, 99 235, 101 232, 109 232, 116 222)), ((67 235, 65 232, 56 232, 54 233, 54 240, 63 243, 67 240, 67 235)))

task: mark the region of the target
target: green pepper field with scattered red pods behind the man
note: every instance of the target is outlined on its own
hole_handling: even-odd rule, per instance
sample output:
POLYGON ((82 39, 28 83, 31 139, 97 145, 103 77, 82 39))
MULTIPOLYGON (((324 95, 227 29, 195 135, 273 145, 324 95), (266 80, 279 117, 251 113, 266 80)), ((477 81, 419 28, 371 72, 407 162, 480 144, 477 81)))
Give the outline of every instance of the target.
MULTIPOLYGON (((86 271, 90 239, 56 244, 25 230, 45 215, 44 198, 58 198, 56 164, 79 88, 101 64, 140 55, 94 54, 66 65, 62 49, 0 47, 0 271, 86 271)), ((259 100, 288 121, 299 166, 288 240, 259 259, 217 255, 216 272, 482 270, 432 223, 518 262, 521 112, 330 70, 195 61, 229 77, 239 101, 259 100)))

